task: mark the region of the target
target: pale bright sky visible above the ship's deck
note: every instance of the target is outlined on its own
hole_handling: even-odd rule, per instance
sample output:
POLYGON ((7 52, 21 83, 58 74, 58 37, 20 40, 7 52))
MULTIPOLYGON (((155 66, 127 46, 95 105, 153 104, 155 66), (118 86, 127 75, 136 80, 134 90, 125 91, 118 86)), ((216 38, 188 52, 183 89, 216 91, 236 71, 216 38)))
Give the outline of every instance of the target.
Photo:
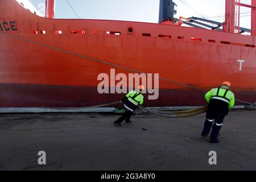
MULTIPOLYGON (((44 13, 44 0, 30 0, 44 13)), ((129 20, 158 23, 159 0, 68 0, 81 19, 129 20)), ((174 0, 176 18, 197 16, 224 22, 225 0, 174 0)), ((241 0, 250 4, 251 0, 241 0)), ((241 27, 250 28, 250 9, 241 7, 241 27)), ((78 18, 66 0, 56 0, 55 18, 78 18)))

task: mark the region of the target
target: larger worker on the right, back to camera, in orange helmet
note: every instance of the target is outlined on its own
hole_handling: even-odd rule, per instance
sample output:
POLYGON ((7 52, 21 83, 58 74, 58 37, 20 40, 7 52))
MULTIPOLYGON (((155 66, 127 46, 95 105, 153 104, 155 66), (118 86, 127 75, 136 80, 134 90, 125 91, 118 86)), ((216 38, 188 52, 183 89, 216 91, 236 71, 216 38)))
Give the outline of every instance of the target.
POLYGON ((209 104, 204 122, 204 129, 201 135, 207 137, 210 128, 212 127, 210 143, 219 142, 218 134, 220 133, 223 119, 228 115, 229 107, 231 108, 234 106, 235 98, 234 93, 229 90, 230 86, 230 82, 225 81, 220 88, 213 88, 205 94, 205 100, 207 100, 209 104))

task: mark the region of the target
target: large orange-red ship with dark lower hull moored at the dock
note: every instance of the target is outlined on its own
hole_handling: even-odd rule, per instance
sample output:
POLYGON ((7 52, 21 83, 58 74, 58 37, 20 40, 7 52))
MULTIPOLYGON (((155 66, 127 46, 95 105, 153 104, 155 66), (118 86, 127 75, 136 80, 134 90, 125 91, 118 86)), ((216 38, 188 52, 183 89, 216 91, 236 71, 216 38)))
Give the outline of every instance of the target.
POLYGON ((182 18, 169 17, 170 2, 160 1, 159 23, 144 23, 55 19, 54 0, 46 1, 46 16, 22 0, 1 0, 0 107, 86 107, 121 100, 124 94, 97 90, 98 75, 112 69, 159 74, 159 97, 145 97, 144 106, 205 105, 205 91, 224 81, 231 82, 237 105, 255 102, 256 0, 251 5, 226 0, 221 30, 181 26, 182 18), (242 35, 236 24, 237 6, 251 9, 250 35, 242 35))

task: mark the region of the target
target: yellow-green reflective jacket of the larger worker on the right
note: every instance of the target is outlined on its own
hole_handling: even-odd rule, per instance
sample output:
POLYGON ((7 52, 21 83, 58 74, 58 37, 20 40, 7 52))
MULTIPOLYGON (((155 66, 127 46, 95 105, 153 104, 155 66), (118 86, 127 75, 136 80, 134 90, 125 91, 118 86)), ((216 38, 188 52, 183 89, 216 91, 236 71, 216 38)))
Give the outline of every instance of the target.
POLYGON ((234 93, 224 88, 213 88, 205 94, 205 100, 209 103, 211 99, 218 99, 229 104, 229 107, 234 106, 234 93))

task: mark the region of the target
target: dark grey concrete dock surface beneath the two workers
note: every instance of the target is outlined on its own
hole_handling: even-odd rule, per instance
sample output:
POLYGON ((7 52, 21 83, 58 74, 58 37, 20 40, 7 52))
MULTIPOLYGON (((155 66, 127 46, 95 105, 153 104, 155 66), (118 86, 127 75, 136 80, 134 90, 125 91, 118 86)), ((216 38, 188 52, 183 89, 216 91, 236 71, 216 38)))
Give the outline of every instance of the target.
POLYGON ((0 170, 256 170, 256 111, 225 118, 220 143, 201 137, 205 113, 190 118, 96 113, 1 114, 0 170), (46 165, 38 152, 46 152, 46 165), (217 164, 210 165, 209 151, 217 164))

